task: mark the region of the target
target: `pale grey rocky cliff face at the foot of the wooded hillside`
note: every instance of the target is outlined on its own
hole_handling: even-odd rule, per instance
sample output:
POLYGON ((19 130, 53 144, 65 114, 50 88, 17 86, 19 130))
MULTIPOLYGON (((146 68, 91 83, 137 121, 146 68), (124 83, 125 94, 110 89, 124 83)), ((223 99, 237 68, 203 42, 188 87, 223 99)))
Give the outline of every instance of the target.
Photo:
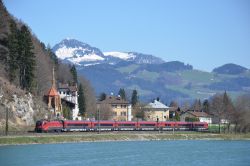
POLYGON ((34 125, 48 114, 45 103, 0 79, 0 128, 5 125, 6 109, 10 126, 14 128, 34 125))

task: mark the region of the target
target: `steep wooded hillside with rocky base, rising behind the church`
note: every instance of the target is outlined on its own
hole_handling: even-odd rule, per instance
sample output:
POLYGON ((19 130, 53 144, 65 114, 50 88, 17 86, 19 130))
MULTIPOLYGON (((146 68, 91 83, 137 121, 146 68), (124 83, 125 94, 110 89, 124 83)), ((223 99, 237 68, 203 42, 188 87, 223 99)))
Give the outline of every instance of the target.
MULTIPOLYGON (((21 123, 22 117, 32 109, 32 116, 26 120, 44 118, 48 112, 43 96, 51 87, 53 67, 56 70, 57 83, 74 82, 71 66, 62 64, 50 46, 41 42, 28 25, 11 16, 0 1, 0 114, 4 115, 4 107, 9 107, 13 114, 12 120, 16 122, 17 112, 23 112, 25 115, 19 116, 21 123), (30 98, 26 100, 25 96, 30 98), (22 106, 19 108, 19 99, 29 108, 22 106), (32 104, 27 104, 28 100, 32 104), (40 117, 38 114, 41 114, 40 117)), ((78 80, 83 85, 84 95, 87 98, 86 109, 93 110, 95 107, 93 90, 86 79, 81 77, 78 80)))

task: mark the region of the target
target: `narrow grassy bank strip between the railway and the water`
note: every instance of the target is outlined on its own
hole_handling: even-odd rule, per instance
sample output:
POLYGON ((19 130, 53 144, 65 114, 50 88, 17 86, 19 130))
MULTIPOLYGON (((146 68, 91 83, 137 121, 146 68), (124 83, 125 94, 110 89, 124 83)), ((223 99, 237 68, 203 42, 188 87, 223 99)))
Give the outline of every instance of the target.
POLYGON ((47 144, 95 141, 151 141, 151 140, 250 140, 249 134, 211 133, 76 133, 35 134, 25 136, 2 136, 0 145, 47 144))

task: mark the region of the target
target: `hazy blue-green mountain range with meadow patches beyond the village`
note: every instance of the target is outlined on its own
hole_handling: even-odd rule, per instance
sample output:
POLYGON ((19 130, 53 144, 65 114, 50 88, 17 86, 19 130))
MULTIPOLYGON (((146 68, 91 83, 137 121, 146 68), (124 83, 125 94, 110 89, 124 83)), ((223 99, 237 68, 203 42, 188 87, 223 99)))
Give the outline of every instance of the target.
MULTIPOLYGON (((85 43, 84 46, 90 45, 85 43)), ((79 45, 73 45, 68 48, 78 47, 79 45)), ((103 59, 78 63, 77 70, 80 75, 90 80, 96 95, 102 92, 115 93, 120 88, 124 88, 129 93, 136 89, 142 101, 151 101, 160 97, 162 101, 169 103, 172 100, 182 102, 197 98, 207 99, 224 91, 233 95, 250 93, 250 71, 239 65, 225 64, 217 67, 229 68, 228 70, 234 71, 234 74, 216 70, 205 72, 194 69, 190 64, 180 61, 165 62, 153 55, 117 51, 102 53, 99 49, 101 53, 98 53, 93 50, 93 48, 97 49, 96 47, 90 47, 86 49, 92 49, 90 53, 96 53, 103 59), (235 74, 237 71, 239 73, 235 74)), ((74 52, 74 54, 77 53, 77 51, 74 52)), ((61 60, 65 59, 61 58, 61 60)))

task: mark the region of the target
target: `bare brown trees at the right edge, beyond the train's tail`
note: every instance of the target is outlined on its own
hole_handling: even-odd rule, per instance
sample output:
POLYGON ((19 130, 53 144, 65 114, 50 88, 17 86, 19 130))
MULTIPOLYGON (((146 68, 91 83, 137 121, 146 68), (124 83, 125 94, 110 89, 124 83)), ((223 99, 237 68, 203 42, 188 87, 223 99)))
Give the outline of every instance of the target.
POLYGON ((172 101, 170 106, 178 108, 180 112, 206 112, 212 117, 213 123, 219 124, 219 130, 222 123, 226 125, 225 132, 232 132, 230 129, 233 126, 234 132, 250 131, 250 94, 241 95, 232 101, 227 92, 224 92, 204 101, 197 99, 191 105, 185 102, 179 106, 177 102, 172 101))

